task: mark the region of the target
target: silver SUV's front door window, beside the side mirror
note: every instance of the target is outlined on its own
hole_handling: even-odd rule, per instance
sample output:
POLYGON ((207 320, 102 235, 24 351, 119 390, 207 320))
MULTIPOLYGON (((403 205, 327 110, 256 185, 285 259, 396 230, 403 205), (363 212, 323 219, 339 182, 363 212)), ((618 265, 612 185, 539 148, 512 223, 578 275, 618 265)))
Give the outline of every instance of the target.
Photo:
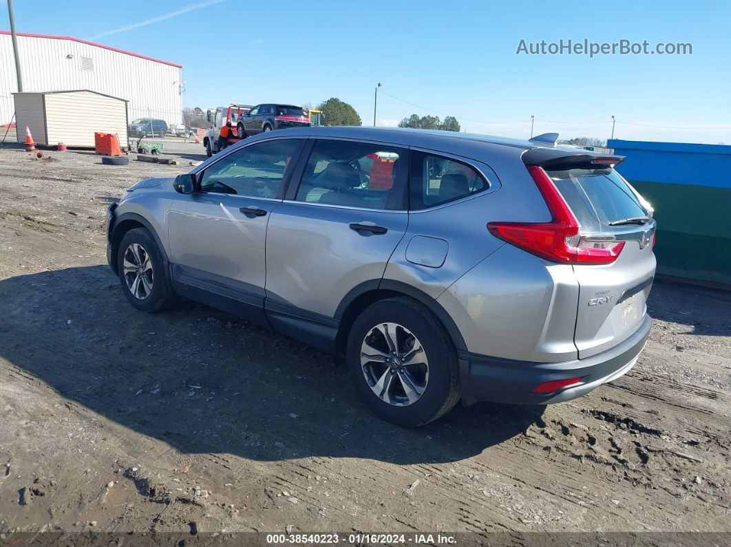
POLYGON ((300 139, 279 139, 240 148, 205 169, 204 192, 277 198, 300 139))

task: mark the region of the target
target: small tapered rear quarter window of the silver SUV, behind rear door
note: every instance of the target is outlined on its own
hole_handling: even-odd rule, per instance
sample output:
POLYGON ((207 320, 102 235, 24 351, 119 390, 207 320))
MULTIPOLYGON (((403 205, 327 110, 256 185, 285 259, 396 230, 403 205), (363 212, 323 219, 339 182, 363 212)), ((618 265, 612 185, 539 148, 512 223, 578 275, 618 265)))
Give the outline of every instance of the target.
POLYGON ((412 152, 409 209, 428 209, 490 188, 477 169, 461 161, 412 152))

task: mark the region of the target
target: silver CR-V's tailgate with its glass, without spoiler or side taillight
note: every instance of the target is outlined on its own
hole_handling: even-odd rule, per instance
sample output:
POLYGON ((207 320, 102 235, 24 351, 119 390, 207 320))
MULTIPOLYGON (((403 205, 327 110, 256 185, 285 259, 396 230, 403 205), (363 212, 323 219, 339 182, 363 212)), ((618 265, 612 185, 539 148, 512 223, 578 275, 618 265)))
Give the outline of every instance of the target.
POLYGON ((545 172, 575 215, 578 246, 615 245, 617 255, 605 264, 572 264, 579 283, 574 340, 584 359, 623 342, 645 320, 656 224, 649 204, 612 164, 571 167, 547 165, 545 172))

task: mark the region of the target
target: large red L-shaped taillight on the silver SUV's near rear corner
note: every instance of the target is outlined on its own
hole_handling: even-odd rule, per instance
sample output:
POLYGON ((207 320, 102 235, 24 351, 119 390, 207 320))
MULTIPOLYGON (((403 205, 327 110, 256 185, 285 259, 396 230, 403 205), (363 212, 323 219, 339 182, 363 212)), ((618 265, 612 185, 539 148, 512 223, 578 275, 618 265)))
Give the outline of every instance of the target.
POLYGON ((579 223, 556 185, 537 165, 526 166, 551 214, 551 221, 491 222, 488 229, 501 240, 554 262, 564 264, 609 264, 617 259, 624 242, 613 237, 590 237, 579 233, 579 223))

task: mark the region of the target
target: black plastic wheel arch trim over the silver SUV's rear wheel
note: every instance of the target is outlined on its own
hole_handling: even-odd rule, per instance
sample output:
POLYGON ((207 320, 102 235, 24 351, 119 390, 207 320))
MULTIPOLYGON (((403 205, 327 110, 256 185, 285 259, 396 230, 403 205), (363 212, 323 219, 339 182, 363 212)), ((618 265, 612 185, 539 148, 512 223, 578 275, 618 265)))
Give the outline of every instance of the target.
POLYGON ((337 353, 343 354, 345 352, 350 327, 355 321, 355 318, 366 307, 380 300, 394 297, 408 297, 427 307, 436 316, 439 323, 442 324, 444 330, 447 331, 447 335, 450 337, 455 349, 457 351, 466 351, 467 347, 457 324, 452 320, 447 310, 444 310, 444 307, 439 302, 436 302, 436 299, 433 299, 424 291, 420 291, 420 289, 402 283, 401 281, 383 279, 360 283, 360 285, 352 288, 342 299, 340 305, 338 305, 338 309, 335 312, 335 318, 339 322, 338 334, 335 340, 337 353))

